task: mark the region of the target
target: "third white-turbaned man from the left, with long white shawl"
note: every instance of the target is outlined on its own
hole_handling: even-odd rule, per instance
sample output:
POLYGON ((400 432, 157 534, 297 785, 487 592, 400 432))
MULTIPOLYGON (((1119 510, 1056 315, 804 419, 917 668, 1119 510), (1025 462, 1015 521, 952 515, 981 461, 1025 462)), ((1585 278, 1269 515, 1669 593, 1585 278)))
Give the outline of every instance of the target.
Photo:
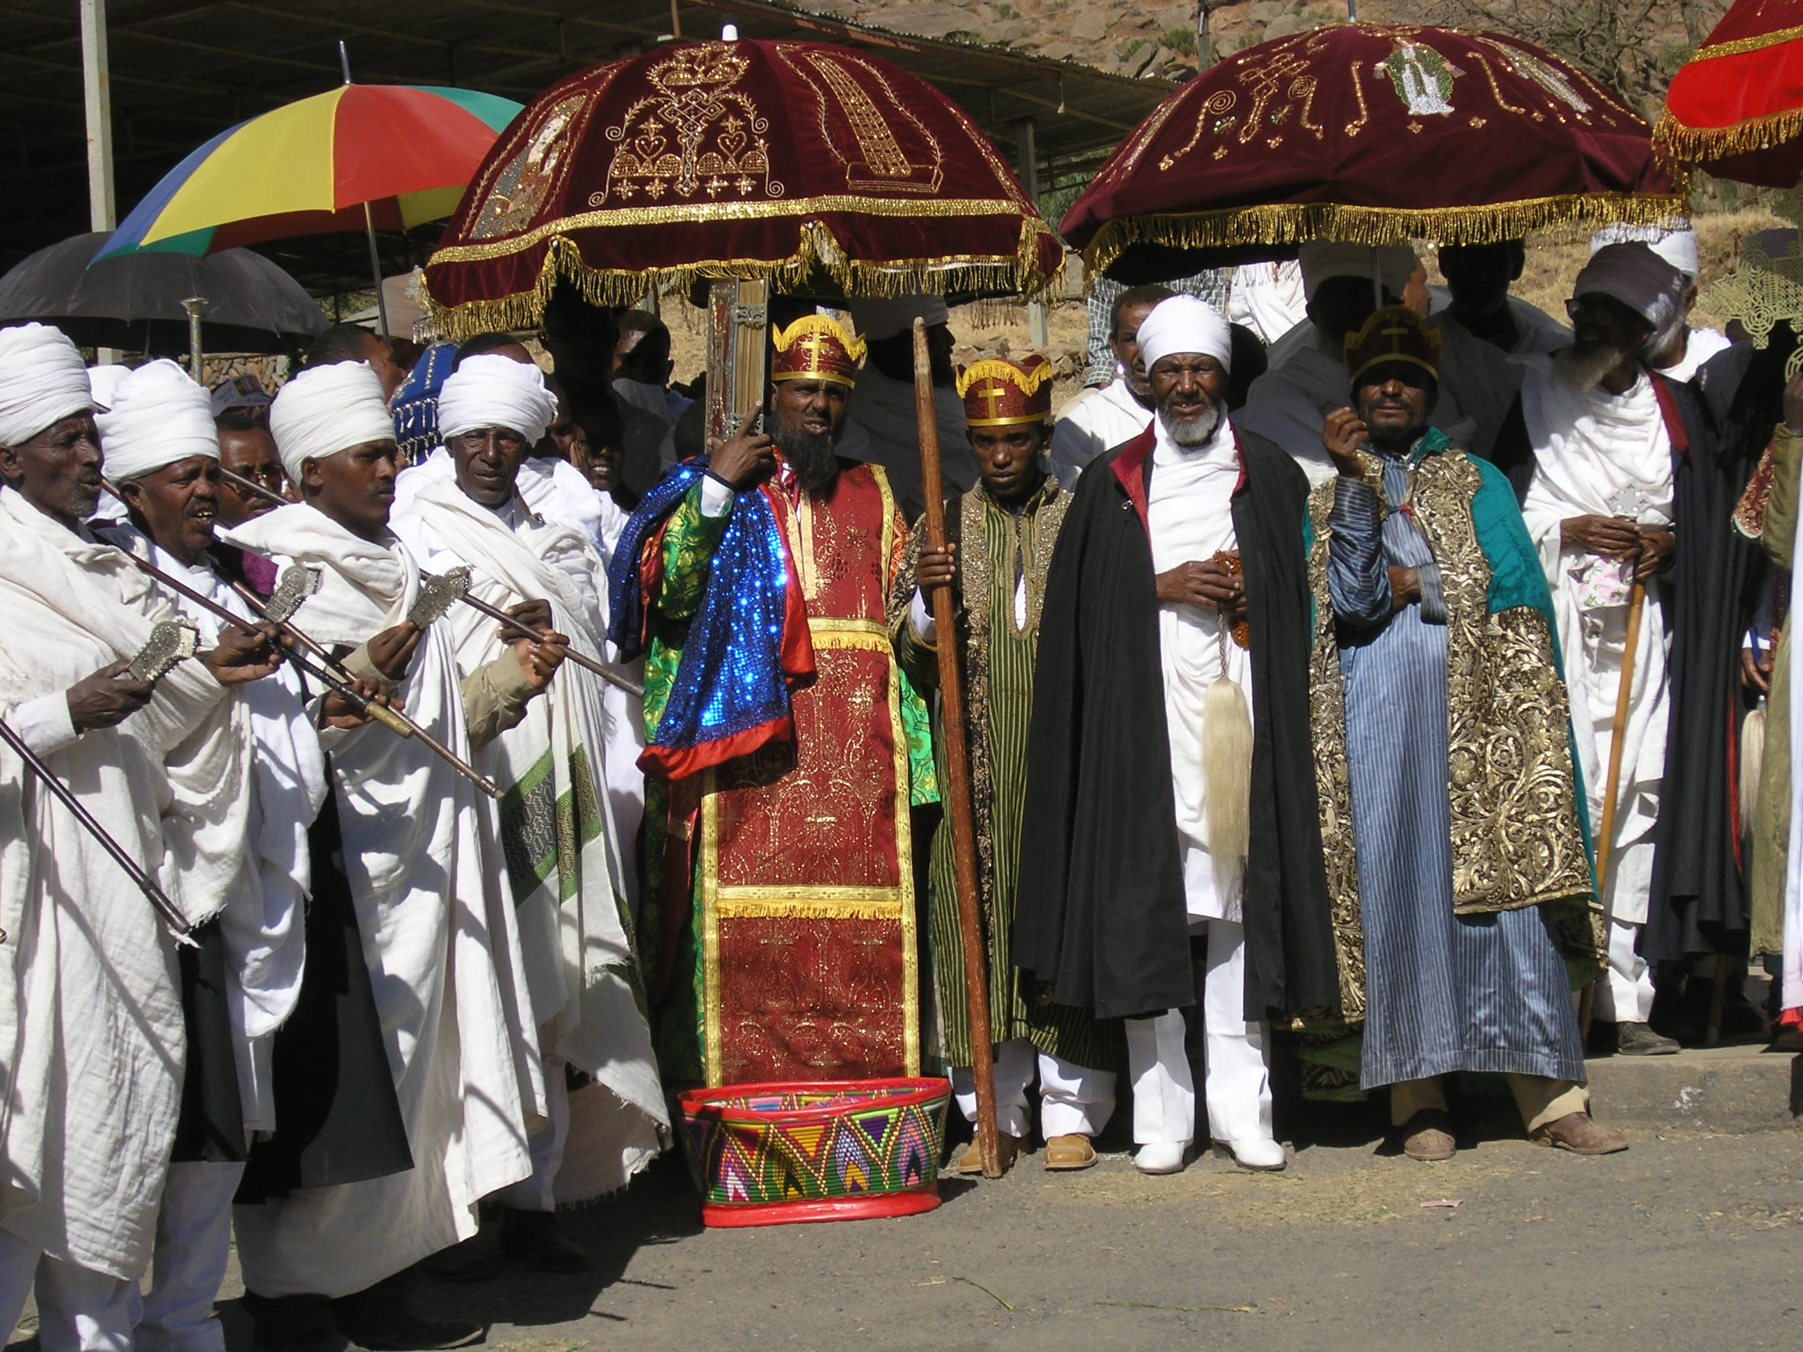
MULTIPOLYGON (((294 377, 270 406, 270 431, 303 501, 243 523, 227 543, 317 568, 319 591, 296 624, 467 761, 525 716, 563 645, 521 642, 463 678, 449 626, 407 618, 420 568, 388 528, 398 449, 368 366, 294 377)), ((326 995, 316 1009, 303 982, 301 1008, 278 1033, 276 1087, 294 1110, 279 1107, 240 1192, 245 1305, 263 1348, 339 1336, 373 1348, 451 1347, 480 1329, 409 1311, 409 1269, 474 1235, 480 1199, 532 1174, 528 1134, 546 1114, 499 827, 489 799, 418 737, 364 725, 321 743, 332 773, 316 826, 307 970, 350 997, 326 995), (339 973, 317 970, 316 916, 348 936, 339 973), (359 968, 373 1019, 370 997, 353 999, 359 968), (339 1060, 317 1053, 321 1040, 359 1053, 371 1035, 388 1080, 346 1083, 339 1060)))

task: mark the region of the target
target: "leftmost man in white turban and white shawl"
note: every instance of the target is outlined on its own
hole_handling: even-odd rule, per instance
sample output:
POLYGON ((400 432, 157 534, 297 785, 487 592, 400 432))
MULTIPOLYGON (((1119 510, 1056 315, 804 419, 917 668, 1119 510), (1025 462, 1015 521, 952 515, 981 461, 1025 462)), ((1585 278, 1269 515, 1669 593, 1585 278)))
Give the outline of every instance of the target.
MULTIPOLYGON (((155 685, 128 672, 177 609, 83 525, 101 494, 92 407, 67 337, 0 330, 0 716, 198 927, 245 831, 222 681, 267 676, 270 654, 234 629, 155 685)), ((9 750, 0 779, 0 1329, 36 1287, 47 1348, 126 1352, 180 1116, 175 945, 9 750)))

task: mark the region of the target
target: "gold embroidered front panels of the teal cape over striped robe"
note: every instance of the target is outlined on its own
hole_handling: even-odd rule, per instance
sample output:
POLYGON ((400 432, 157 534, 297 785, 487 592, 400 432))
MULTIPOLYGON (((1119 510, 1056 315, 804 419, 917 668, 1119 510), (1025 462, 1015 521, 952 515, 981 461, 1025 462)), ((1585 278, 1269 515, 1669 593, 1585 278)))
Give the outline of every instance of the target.
MULTIPOLYGON (((1491 568, 1471 523, 1482 478, 1464 452, 1428 456, 1414 470, 1415 523, 1441 568, 1446 595, 1448 806, 1453 912, 1491 914, 1547 905, 1567 959, 1606 952, 1590 856, 1578 822, 1570 710, 1552 662, 1545 617, 1529 607, 1489 611, 1491 568)), ((1327 588, 1334 480, 1309 496, 1314 548, 1314 651, 1309 714, 1322 845, 1345 1019, 1365 1009, 1363 925, 1352 845, 1345 752, 1345 690, 1327 588)))

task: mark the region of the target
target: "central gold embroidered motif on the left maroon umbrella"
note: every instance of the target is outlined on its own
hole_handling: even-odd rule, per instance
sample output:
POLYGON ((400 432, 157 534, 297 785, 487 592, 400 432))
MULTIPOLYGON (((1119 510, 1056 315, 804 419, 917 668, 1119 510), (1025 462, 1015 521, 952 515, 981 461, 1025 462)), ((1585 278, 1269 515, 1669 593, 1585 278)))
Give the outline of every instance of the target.
POLYGON ((608 186, 588 206, 640 193, 653 202, 700 193, 709 200, 783 196, 783 184, 770 177, 770 119, 736 88, 748 69, 750 58, 732 43, 682 47, 653 65, 645 81, 656 94, 608 128, 617 146, 608 186))

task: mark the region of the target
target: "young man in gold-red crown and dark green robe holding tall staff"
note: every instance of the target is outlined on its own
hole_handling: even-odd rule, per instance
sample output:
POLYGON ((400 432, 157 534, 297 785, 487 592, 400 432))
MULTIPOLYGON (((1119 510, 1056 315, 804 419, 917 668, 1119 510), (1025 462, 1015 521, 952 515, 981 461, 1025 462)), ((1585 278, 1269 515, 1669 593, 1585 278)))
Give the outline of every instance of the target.
MULTIPOLYGON (((898 579, 907 618, 896 624, 896 656, 920 687, 938 685, 934 588, 950 586, 961 617, 957 647, 970 725, 970 779, 981 901, 986 930, 990 1037, 995 1044, 995 1116, 1002 1168, 1028 1137, 1028 1085, 1039 1073, 1046 1168, 1096 1163, 1091 1139, 1114 1112, 1118 1026, 1084 1009, 1053 1004, 1010 952, 1015 878, 1020 871, 1020 813, 1026 795, 1026 737, 1033 714, 1033 654, 1046 600, 1046 570, 1071 494, 1040 467, 1051 436, 1051 362, 983 361, 963 370, 970 445, 981 481, 945 508, 947 548, 925 544, 916 525, 898 579), (959 550, 963 548, 963 559, 959 550)), ((892 604, 891 609, 900 609, 892 604)), ((977 1119, 966 1013, 963 936, 957 923, 954 831, 941 822, 932 840, 932 970, 939 1037, 957 1105, 977 1119)), ((975 1145, 957 1159, 961 1174, 981 1172, 975 1145)))

